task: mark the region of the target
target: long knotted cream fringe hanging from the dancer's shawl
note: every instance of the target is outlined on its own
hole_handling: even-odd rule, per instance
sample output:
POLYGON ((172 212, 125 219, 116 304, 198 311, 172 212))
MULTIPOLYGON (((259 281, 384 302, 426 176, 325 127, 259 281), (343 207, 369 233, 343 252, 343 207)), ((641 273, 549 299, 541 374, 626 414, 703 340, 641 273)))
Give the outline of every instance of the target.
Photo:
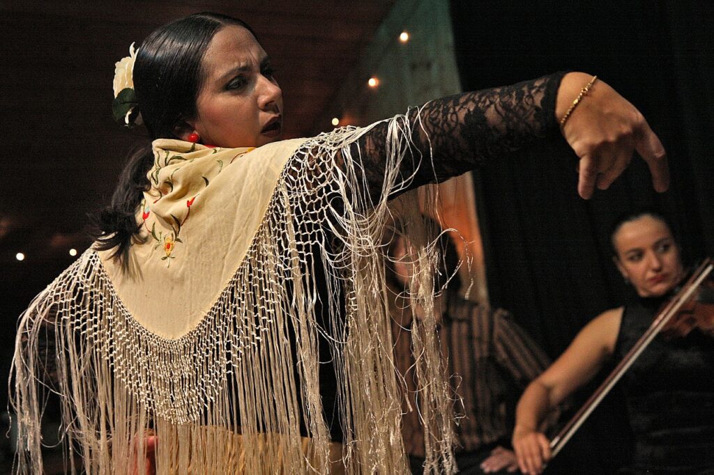
MULTIPOLYGON (((99 255, 84 252, 20 320, 12 407, 26 450, 16 471, 42 473, 40 424, 56 392, 73 474, 143 473, 149 434, 157 436, 159 474, 406 473, 406 385, 393 362, 382 235, 392 219, 386 197, 412 179, 399 173, 403 161, 428 160, 413 148, 411 125, 403 116, 389 124, 376 203, 366 190, 368 165, 349 146, 368 129, 306 142, 288 160, 235 275, 178 339, 139 325, 99 255), (318 301, 318 285, 327 286, 327 302, 318 301), (318 355, 320 338, 331 342, 331 355, 318 355), (326 356, 336 367, 344 444, 331 442, 323 416, 332 412, 319 391, 326 356)), ((438 257, 419 223, 418 200, 399 200, 411 216, 411 243, 421 245, 412 298, 433 308, 438 257)), ((436 321, 413 328, 426 473, 451 473, 451 400, 436 321)))

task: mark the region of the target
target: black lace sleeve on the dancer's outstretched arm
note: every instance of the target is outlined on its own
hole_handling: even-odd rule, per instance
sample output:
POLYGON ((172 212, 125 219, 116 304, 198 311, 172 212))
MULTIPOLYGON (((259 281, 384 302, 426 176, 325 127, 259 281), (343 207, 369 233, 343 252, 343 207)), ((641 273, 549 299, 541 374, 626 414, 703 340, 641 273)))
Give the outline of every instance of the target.
MULTIPOLYGON (((564 75, 457 94, 412 108, 406 120, 418 150, 412 150, 413 160, 403 162, 402 175, 414 175, 399 191, 461 175, 537 138, 554 135, 558 131, 555 96, 564 75), (433 160, 417 159, 417 155, 429 157, 430 149, 433 160)), ((356 145, 367 162, 364 178, 373 197, 382 191, 388 128, 388 122, 378 123, 356 145)))

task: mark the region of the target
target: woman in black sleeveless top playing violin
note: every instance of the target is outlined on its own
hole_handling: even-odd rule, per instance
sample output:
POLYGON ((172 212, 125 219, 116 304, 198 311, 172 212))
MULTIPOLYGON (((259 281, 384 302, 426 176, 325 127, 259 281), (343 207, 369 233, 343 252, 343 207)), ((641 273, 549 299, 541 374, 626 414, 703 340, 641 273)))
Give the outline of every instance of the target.
MULTIPOLYGON (((608 359, 633 347, 685 277, 668 221, 654 210, 623 215, 610 233, 613 260, 637 295, 595 317, 568 349, 523 392, 513 447, 521 471, 538 474, 551 457, 538 431, 551 407, 583 386, 608 359)), ((635 436, 620 473, 714 473, 714 338, 694 328, 659 334, 625 373, 623 392, 635 436)))

